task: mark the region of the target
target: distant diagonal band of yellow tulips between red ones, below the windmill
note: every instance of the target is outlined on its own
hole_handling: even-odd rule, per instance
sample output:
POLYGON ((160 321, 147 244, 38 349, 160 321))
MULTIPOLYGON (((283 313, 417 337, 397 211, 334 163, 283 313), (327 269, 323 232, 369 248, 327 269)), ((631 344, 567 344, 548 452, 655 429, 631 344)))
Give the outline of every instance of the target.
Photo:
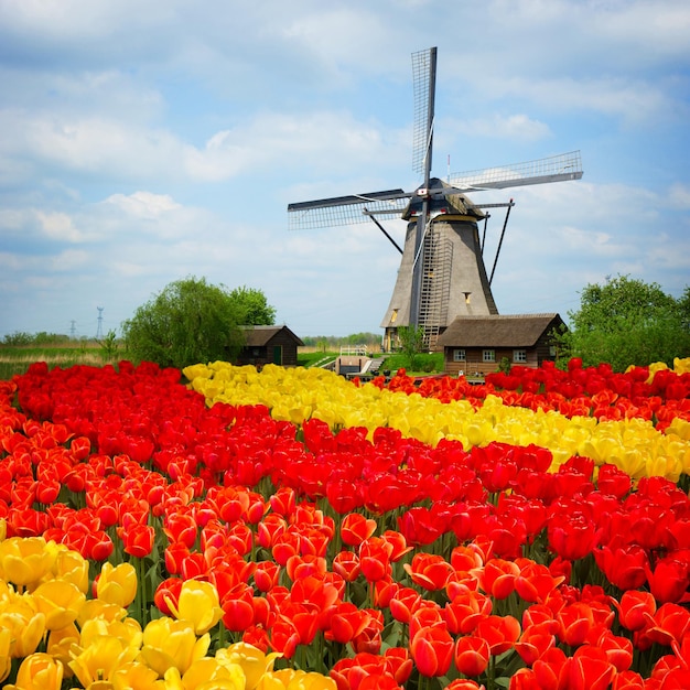
MULTIPOLYGON (((650 375, 665 367, 662 363, 651 365, 650 375)), ((690 358, 678 360, 675 367, 690 369, 690 358)), ((492 441, 535 444, 551 451, 551 471, 580 454, 593 457, 596 464, 629 468, 635 478, 662 470, 672 479, 679 467, 686 472, 690 466, 690 443, 683 436, 689 432, 680 422, 665 434, 642 419, 611 422, 600 422, 593 417, 568 419, 556 411, 511 407, 498 396, 488 396, 475 410, 467 400, 445 403, 418 393, 381 390, 373 384, 357 387, 333 371, 302 367, 284 369, 268 365, 257 373, 252 367, 214 363, 203 369, 203 381, 192 379, 190 386, 202 390, 213 381, 213 389, 204 392, 208 406, 217 401, 265 405, 274 419, 295 423, 321 419, 333 431, 341 427, 364 427, 369 440, 375 429, 390 427, 430 445, 443 438, 459 440, 466 448, 492 441), (669 443, 670 435, 676 440, 680 436, 683 444, 669 443), (630 450, 636 450, 639 457, 630 455, 630 450), (661 462, 660 457, 667 460, 661 462)))

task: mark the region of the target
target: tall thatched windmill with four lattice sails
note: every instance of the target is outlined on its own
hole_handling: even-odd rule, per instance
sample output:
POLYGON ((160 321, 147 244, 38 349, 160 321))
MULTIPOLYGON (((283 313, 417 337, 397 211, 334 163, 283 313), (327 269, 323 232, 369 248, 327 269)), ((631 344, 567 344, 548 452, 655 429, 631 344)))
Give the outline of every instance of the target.
POLYGON ((353 194, 289 204, 291 229, 335 227, 373 220, 401 252, 398 278, 381 327, 390 349, 400 326, 421 326, 424 346, 435 339, 460 315, 497 314, 490 282, 498 260, 513 200, 499 204, 474 204, 466 192, 504 190, 582 177, 579 151, 449 175, 444 182, 431 176, 436 82, 436 48, 412 54, 414 125, 413 168, 421 185, 411 192, 401 188, 353 194), (500 240, 490 276, 484 263, 485 209, 506 208, 500 240), (408 222, 401 249, 378 220, 398 216, 408 222), (478 224, 484 222, 479 238, 478 224))

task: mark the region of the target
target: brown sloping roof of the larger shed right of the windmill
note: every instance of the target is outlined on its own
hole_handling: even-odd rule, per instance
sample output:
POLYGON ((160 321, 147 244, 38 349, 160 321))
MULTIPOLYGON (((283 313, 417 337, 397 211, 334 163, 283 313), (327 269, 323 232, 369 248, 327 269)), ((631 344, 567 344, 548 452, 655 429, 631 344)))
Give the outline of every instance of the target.
POLYGON ((443 347, 531 347, 563 323, 559 314, 457 316, 439 336, 443 347))

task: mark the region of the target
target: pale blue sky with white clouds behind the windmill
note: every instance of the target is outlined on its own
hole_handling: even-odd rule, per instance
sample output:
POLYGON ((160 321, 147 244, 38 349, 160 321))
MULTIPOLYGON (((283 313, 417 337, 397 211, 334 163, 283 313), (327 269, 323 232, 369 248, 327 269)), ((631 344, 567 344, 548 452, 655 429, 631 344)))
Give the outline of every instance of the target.
POLYGON ((515 201, 498 311, 568 320, 618 274, 680 297, 688 36, 687 0, 0 0, 0 337, 119 335, 191 277, 261 290, 301 337, 382 334, 398 251, 287 207, 419 186, 432 46, 435 176, 581 151, 580 181, 471 195, 515 201))

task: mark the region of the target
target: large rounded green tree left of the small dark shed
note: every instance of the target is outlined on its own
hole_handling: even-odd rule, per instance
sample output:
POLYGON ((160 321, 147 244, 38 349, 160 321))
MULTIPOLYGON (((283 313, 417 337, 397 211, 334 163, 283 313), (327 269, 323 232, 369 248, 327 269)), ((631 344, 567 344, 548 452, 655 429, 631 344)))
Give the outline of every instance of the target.
POLYGON ((225 285, 204 278, 169 283, 122 324, 127 351, 141 360, 177 368, 200 362, 233 360, 245 337, 246 305, 225 285))

